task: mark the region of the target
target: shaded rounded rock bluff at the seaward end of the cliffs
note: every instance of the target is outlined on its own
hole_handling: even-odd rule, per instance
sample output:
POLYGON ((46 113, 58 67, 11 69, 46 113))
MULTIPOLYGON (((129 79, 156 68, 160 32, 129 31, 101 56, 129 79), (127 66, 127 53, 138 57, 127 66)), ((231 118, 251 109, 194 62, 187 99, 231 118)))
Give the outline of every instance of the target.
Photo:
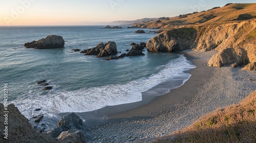
POLYGON ((192 49, 196 46, 197 30, 180 28, 164 31, 146 43, 150 52, 176 52, 192 49))

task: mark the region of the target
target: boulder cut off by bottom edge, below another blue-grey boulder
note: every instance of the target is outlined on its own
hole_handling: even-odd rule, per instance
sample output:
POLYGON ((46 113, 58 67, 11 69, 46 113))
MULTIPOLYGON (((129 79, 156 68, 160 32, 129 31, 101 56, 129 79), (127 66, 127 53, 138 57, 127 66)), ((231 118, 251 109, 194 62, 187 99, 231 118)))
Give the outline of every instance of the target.
POLYGON ((61 142, 87 142, 81 131, 72 129, 69 131, 64 131, 58 136, 58 140, 61 142))

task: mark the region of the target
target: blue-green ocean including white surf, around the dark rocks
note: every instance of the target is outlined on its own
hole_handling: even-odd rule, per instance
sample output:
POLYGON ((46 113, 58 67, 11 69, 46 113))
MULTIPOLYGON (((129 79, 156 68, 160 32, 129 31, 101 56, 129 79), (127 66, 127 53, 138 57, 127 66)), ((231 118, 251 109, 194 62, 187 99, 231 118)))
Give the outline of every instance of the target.
POLYGON ((0 79, 3 89, 4 83, 9 84, 9 103, 27 118, 36 108, 41 108, 38 114, 49 116, 93 111, 141 101, 142 92, 159 96, 182 85, 190 77, 184 71, 195 68, 182 55, 146 49, 145 56, 111 61, 72 53, 72 49, 85 50, 107 41, 115 41, 118 52, 127 53, 131 42, 147 42, 156 35, 101 27, 0 27, 0 79), (23 46, 51 34, 62 36, 65 47, 34 50, 23 46), (37 86, 40 80, 47 80, 53 89, 42 90, 37 86))

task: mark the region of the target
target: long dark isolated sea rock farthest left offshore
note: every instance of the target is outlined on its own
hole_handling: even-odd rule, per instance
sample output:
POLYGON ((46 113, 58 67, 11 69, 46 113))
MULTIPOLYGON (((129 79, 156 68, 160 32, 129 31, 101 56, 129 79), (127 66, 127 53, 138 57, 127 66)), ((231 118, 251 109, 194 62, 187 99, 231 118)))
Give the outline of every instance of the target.
POLYGON ((65 44, 62 36, 49 35, 45 38, 42 38, 38 41, 27 42, 24 44, 26 48, 34 49, 53 49, 57 47, 63 47, 65 44))

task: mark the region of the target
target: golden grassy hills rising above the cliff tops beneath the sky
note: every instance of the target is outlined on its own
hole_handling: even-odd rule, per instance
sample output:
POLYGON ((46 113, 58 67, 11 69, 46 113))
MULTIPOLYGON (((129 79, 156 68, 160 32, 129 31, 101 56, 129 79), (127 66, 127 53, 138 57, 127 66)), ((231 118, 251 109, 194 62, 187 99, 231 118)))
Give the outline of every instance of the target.
POLYGON ((236 20, 256 19, 256 3, 228 4, 222 8, 216 7, 207 11, 183 14, 163 19, 161 22, 150 21, 137 23, 134 28, 170 29, 177 27, 190 27, 191 25, 204 25, 214 22, 227 22, 236 20))

